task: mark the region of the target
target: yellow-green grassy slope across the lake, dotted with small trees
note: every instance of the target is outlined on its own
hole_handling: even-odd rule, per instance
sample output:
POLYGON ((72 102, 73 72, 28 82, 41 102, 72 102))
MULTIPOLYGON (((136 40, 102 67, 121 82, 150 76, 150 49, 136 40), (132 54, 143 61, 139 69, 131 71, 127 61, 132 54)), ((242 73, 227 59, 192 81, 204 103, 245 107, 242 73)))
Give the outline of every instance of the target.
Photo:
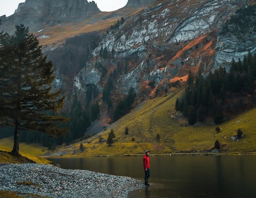
POLYGON ((151 154, 208 152, 217 139, 221 144, 220 152, 223 153, 256 151, 256 108, 218 125, 221 130, 217 133, 216 125, 184 126, 186 121, 175 112, 176 98, 180 94, 181 92, 176 91, 144 101, 101 134, 71 145, 59 154, 136 155, 143 154, 145 150, 150 150, 151 154), (127 135, 125 127, 129 129, 127 135), (114 144, 108 146, 106 139, 111 129, 114 130, 116 138, 114 144), (236 135, 238 129, 242 130, 244 137, 239 141, 231 140, 231 136, 236 135), (157 134, 160 141, 156 139, 157 134), (100 136, 103 139, 101 142, 100 136), (79 149, 80 143, 83 144, 84 151, 79 149))

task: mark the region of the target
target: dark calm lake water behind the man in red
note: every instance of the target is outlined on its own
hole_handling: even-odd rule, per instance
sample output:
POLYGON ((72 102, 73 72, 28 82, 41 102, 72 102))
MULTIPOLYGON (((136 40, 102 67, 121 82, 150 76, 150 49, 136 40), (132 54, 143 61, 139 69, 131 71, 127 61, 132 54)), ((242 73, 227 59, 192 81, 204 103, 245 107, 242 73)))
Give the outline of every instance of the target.
MULTIPOLYGON (((143 181, 142 156, 50 158, 67 169, 86 169, 143 181)), ((256 197, 256 156, 150 156, 152 185, 130 197, 256 197)))

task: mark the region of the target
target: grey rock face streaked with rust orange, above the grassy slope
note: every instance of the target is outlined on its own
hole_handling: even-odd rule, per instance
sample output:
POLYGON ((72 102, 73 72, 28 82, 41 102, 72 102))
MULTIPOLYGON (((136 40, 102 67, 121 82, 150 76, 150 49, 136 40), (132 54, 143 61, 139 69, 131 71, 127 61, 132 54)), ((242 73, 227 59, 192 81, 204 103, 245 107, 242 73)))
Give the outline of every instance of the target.
MULTIPOLYGON (((115 51, 109 69, 114 70, 120 59, 131 60, 130 70, 121 73, 115 83, 115 89, 124 94, 130 87, 140 93, 145 87, 142 85, 150 81, 164 90, 170 80, 187 75, 188 70, 207 73, 219 66, 228 67, 232 58, 242 59, 248 51, 255 52, 254 30, 242 40, 230 32, 220 34, 228 19, 247 5, 247 0, 156 1, 106 34, 93 52, 94 60, 106 66, 98 56, 102 46, 108 52, 115 51)), ((87 72, 94 64, 87 64, 79 73, 87 83, 95 84, 87 72)), ((100 75, 99 70, 93 72, 100 75)))

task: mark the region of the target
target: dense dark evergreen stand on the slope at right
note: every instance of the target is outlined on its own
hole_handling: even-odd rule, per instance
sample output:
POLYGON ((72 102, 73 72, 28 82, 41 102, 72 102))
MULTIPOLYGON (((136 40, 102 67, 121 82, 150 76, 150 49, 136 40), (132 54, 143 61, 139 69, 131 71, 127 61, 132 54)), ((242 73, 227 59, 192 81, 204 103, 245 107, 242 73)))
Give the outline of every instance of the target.
MULTIPOLYGON (((254 105, 254 90, 256 80, 256 55, 250 53, 243 62, 232 59, 230 72, 219 67, 214 73, 209 72, 206 78, 197 76, 195 81, 191 72, 188 74, 187 87, 181 98, 177 98, 175 110, 181 111, 191 124, 214 118, 220 123, 224 112, 241 108, 246 104, 254 105), (251 100, 245 100, 242 95, 247 94, 251 100), (236 97, 238 100, 234 100, 236 97)), ((200 71, 198 72, 200 75, 200 71)))

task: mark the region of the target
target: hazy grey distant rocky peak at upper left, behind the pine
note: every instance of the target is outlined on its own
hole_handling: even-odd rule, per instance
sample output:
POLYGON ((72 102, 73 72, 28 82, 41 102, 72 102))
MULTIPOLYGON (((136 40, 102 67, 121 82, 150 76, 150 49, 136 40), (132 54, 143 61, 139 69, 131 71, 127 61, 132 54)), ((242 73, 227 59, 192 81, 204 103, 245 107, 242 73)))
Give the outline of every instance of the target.
POLYGON ((100 12, 94 1, 87 0, 27 0, 20 3, 15 13, 1 20, 7 31, 13 29, 15 24, 24 23, 35 32, 60 22, 71 22, 100 12))

